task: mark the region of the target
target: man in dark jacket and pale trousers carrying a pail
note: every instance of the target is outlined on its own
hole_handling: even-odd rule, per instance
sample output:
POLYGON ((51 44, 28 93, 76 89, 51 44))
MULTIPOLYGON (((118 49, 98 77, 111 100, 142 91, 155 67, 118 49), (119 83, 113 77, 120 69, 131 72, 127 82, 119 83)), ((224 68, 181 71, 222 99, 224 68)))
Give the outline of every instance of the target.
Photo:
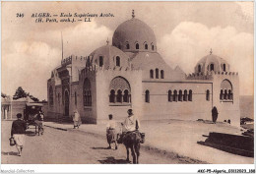
POLYGON ((18 149, 18 156, 22 155, 23 147, 25 145, 25 134, 27 125, 24 120, 22 120, 22 114, 17 114, 17 120, 12 124, 11 137, 14 138, 16 147, 18 149))

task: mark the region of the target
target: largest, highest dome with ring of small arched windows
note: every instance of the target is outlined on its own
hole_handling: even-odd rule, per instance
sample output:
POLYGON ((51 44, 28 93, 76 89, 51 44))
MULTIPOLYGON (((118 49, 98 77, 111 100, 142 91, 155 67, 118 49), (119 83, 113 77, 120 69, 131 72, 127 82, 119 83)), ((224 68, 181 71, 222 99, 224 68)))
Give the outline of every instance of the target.
POLYGON ((132 18, 115 29, 112 44, 125 52, 157 51, 156 36, 147 24, 132 18))

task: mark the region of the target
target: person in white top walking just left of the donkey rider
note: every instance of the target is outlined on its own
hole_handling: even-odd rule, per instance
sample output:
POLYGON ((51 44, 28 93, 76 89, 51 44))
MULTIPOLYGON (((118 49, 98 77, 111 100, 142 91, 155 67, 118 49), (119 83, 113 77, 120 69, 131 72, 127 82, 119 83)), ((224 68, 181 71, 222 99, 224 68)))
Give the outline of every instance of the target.
POLYGON ((116 142, 116 133, 115 133, 115 128, 116 128, 116 122, 113 120, 113 115, 109 114, 108 115, 109 121, 106 124, 106 140, 108 147, 111 148, 111 144, 115 144, 115 149, 117 149, 117 142, 116 142))

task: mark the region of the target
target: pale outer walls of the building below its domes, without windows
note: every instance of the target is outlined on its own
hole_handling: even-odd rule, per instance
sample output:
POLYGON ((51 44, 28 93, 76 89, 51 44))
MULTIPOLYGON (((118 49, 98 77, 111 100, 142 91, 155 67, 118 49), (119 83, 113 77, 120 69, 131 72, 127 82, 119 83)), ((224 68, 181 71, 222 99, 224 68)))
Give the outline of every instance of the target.
MULTIPOLYGON (((197 77, 194 77, 195 79, 197 77)), ((48 83, 53 87, 53 106, 48 106, 48 116, 54 119, 63 117, 64 105, 62 99, 62 86, 54 87, 54 81, 48 83), (60 93, 60 103, 58 94, 60 93)), ((113 114, 116 120, 123 121, 127 117, 127 110, 132 108, 134 114, 142 120, 180 119, 180 120, 212 120, 212 108, 217 106, 219 111, 218 121, 230 120, 231 125, 239 126, 239 79, 236 74, 225 73, 211 74, 208 80, 196 79, 185 81, 168 81, 144 79, 141 70, 127 69, 98 69, 86 71, 84 69, 79 77, 79 82, 72 83, 70 87, 69 117, 77 108, 81 114, 83 123, 98 123, 106 121, 108 114, 113 114), (122 77, 129 82, 131 87, 132 102, 129 104, 109 103, 110 82, 115 77, 122 77), (84 81, 88 78, 91 82, 92 106, 84 105, 84 81), (220 100, 221 84, 224 80, 232 85, 233 100, 224 102, 220 100), (150 90, 150 102, 145 102, 145 91, 150 90), (168 101, 168 90, 173 91, 192 90, 192 101, 168 101), (210 99, 206 99, 206 92, 210 90, 210 99), (77 92, 77 105, 75 104, 75 92, 77 92)))

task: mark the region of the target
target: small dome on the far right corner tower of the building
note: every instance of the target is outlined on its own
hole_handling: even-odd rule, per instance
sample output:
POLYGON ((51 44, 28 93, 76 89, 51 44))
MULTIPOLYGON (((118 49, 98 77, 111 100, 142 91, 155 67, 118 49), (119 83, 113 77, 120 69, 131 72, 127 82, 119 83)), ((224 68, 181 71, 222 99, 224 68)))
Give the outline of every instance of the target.
POLYGON ((205 72, 228 72, 229 64, 221 57, 212 54, 200 59, 195 67, 195 73, 205 72))

